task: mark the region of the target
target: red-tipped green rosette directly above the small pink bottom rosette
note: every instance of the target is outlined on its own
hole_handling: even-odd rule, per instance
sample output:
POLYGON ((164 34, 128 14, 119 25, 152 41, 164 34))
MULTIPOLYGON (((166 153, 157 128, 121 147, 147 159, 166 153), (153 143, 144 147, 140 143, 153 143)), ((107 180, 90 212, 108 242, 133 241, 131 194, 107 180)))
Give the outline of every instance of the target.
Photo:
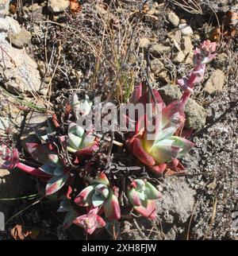
POLYGON ((105 173, 99 174, 94 179, 86 178, 86 180, 90 185, 76 196, 75 204, 83 207, 102 207, 107 219, 120 219, 121 209, 117 196, 114 195, 113 189, 110 188, 109 180, 105 173))

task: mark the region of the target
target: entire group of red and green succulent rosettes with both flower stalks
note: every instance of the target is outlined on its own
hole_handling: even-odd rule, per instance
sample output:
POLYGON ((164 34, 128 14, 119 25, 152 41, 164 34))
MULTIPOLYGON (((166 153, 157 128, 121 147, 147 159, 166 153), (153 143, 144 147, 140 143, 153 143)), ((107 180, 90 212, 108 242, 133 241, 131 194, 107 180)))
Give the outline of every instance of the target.
MULTIPOLYGON (((215 50, 216 44, 210 41, 204 41, 194 50, 194 69, 187 78, 177 81, 183 90, 181 99, 166 106, 159 91, 152 89, 143 93, 142 83, 132 93, 131 103, 140 103, 144 108, 148 103, 152 104, 152 118, 148 118, 146 114, 137 116, 136 130, 125 135, 128 137, 124 145, 137 162, 156 174, 161 175, 167 169, 174 172, 184 169, 178 159, 194 145, 182 135, 186 120, 184 107, 194 85, 203 80, 205 65, 213 60, 215 50), (155 123, 152 138, 148 136, 151 134, 148 130, 150 122, 155 123)), ((150 183, 151 180, 140 176, 136 179, 125 177, 125 191, 121 192, 119 190, 122 186, 118 181, 114 184, 117 180, 115 173, 90 165, 92 158, 100 153, 100 141, 94 134, 94 127, 83 129, 79 125, 79 119, 82 115, 86 117, 91 114, 93 107, 87 96, 81 99, 78 94, 72 95, 66 107, 67 126, 63 129, 63 134, 59 132, 56 114, 47 118, 48 126, 45 130, 36 130, 36 142, 25 143, 25 151, 35 161, 34 167, 20 160, 16 148, 10 150, 4 143, 0 146, 1 168, 21 169, 38 176, 45 184, 44 196, 56 195, 60 200, 58 211, 66 212, 63 227, 75 223, 90 235, 121 219, 122 208, 128 211, 125 214, 130 214, 131 209, 148 219, 155 219, 156 200, 161 196, 158 189, 150 183), (86 166, 90 166, 89 173, 85 171, 86 166), (126 206, 121 204, 123 196, 126 197, 126 206)), ((129 117, 127 121, 130 122, 129 117)), ((148 178, 149 176, 150 173, 148 178)))

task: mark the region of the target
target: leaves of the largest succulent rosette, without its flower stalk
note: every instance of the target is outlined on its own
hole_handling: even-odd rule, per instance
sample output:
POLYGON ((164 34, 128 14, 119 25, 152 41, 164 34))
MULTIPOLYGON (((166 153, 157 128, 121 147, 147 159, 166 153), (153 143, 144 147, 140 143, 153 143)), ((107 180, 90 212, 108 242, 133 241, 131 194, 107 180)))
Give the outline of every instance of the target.
MULTIPOLYGON (((135 90, 137 97, 136 103, 143 103, 144 107, 148 103, 148 92, 144 95, 138 93, 142 91, 142 84, 140 83, 135 90), (139 98, 138 98, 139 97, 139 98)), ((183 112, 184 103, 182 101, 175 101, 165 107, 159 92, 153 90, 156 103, 162 106, 161 120, 155 118, 155 122, 162 122, 161 125, 156 125, 155 135, 153 139, 148 139, 147 126, 140 128, 141 120, 146 121, 146 115, 137 121, 137 128, 132 138, 129 138, 127 145, 132 154, 138 158, 144 165, 155 173, 163 173, 167 167, 167 162, 173 161, 178 157, 182 157, 194 145, 192 142, 175 136, 176 131, 181 128, 185 122, 185 114, 183 112), (138 128, 139 127, 139 128, 138 128)), ((136 98, 134 97, 134 99, 136 98)))

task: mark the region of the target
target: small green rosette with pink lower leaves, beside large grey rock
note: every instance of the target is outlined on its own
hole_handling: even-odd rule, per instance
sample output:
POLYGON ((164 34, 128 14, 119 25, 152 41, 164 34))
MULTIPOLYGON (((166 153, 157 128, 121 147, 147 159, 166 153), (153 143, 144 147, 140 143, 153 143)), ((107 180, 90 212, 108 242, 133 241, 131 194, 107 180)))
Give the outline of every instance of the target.
POLYGON ((134 210, 148 219, 155 219, 155 200, 161 197, 159 191, 147 180, 133 180, 127 192, 134 210))

